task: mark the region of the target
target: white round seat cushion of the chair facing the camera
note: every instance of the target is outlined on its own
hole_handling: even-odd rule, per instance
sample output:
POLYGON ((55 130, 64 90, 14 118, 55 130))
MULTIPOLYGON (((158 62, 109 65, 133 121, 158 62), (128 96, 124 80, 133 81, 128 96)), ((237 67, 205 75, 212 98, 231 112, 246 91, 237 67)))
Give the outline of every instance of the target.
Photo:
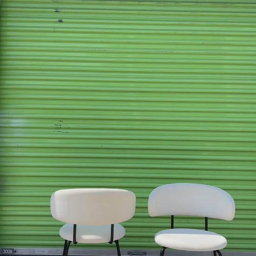
POLYGON ((155 243, 178 250, 213 251, 227 246, 225 237, 200 229, 166 229, 155 235, 155 243))

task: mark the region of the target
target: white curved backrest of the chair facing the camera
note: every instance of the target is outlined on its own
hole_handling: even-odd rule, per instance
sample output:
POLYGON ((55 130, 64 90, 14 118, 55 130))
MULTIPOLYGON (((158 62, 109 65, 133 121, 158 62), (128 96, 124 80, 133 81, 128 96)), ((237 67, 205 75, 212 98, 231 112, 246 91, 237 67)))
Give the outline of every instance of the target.
POLYGON ((201 216, 232 220, 235 202, 222 189, 203 184, 173 183, 154 189, 148 198, 150 216, 201 216))

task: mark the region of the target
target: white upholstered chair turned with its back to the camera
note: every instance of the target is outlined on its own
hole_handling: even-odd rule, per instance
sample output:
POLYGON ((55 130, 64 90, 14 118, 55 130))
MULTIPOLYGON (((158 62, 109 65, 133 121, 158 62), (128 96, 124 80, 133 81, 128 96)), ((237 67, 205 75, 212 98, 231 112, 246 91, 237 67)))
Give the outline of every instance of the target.
POLYGON ((63 256, 70 243, 113 243, 121 256, 119 242, 125 235, 119 222, 135 213, 135 194, 123 189, 63 189, 51 196, 52 216, 66 222, 60 229, 65 239, 63 256))

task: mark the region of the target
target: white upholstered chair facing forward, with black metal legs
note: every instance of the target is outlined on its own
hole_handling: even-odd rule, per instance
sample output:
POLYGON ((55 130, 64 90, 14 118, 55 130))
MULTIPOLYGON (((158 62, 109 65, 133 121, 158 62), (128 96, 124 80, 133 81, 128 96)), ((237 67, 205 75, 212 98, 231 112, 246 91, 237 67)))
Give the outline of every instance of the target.
POLYGON ((154 189, 148 198, 150 216, 171 216, 171 229, 158 232, 155 243, 165 249, 213 251, 214 256, 227 245, 225 237, 208 231, 208 217, 230 221, 235 216, 231 195, 213 186, 194 183, 166 184, 154 189), (176 229, 174 216, 205 217, 205 229, 176 229))

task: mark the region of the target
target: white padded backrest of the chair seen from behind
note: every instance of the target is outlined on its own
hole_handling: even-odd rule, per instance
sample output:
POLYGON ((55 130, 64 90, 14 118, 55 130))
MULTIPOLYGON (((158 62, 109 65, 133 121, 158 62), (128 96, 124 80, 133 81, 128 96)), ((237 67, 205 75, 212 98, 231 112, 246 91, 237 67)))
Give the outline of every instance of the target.
POLYGON ((80 225, 127 221, 135 213, 135 194, 123 189, 63 189, 51 197, 52 216, 80 225))

